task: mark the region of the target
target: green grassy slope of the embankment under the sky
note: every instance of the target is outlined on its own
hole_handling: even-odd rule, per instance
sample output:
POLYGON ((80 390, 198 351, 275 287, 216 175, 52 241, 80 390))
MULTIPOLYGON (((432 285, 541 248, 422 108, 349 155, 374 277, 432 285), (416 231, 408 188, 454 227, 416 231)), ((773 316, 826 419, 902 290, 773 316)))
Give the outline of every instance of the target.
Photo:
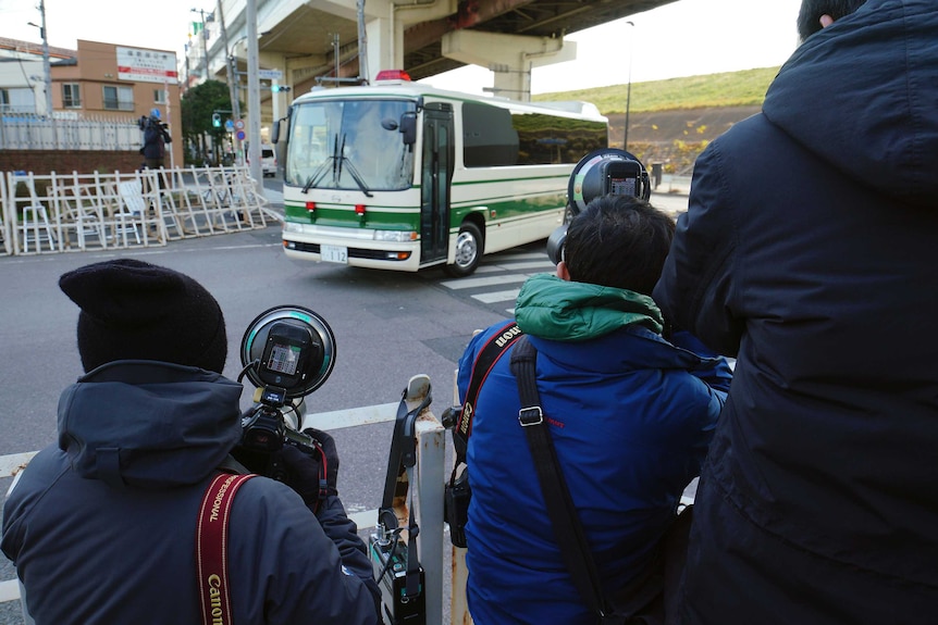
MULTIPOLYGON (((724 72, 632 83, 631 113, 652 113, 709 107, 751 107, 762 104, 765 91, 778 67, 724 72)), ((555 91, 532 97, 535 102, 582 100, 594 103, 604 115, 626 112, 628 85, 610 85, 576 91, 555 91)))

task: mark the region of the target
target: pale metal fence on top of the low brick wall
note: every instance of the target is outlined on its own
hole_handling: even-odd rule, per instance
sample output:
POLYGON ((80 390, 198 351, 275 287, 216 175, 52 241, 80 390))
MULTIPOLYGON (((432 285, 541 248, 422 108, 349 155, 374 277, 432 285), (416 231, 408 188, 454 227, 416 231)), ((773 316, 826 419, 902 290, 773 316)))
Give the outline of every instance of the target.
POLYGON ((136 150, 136 120, 48 118, 30 113, 0 115, 0 150, 136 150))

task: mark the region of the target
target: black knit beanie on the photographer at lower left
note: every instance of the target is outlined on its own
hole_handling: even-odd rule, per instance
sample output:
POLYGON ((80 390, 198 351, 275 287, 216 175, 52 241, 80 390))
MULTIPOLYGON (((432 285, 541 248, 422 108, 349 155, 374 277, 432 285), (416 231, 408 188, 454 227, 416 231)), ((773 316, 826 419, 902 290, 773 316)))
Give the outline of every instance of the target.
POLYGON ((78 267, 59 278, 78 314, 78 352, 89 372, 114 360, 158 360, 222 373, 225 322, 199 283, 134 259, 78 267))

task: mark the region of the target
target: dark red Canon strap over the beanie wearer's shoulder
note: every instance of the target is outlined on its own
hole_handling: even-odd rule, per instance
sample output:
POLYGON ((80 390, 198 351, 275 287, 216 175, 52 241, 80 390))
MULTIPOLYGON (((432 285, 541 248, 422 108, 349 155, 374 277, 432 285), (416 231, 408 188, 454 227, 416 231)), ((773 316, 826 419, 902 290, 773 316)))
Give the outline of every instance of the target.
POLYGON ((196 527, 196 565, 202 623, 231 625, 231 593, 227 577, 227 526, 234 496, 254 474, 220 473, 206 488, 196 527))

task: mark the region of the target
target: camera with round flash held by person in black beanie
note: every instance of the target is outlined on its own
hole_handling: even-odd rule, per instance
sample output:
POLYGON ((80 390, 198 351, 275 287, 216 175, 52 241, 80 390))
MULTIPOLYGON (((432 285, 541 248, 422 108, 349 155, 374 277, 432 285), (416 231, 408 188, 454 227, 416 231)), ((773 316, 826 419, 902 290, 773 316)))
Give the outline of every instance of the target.
POLYGON ((242 440, 232 455, 250 471, 287 480, 276 453, 284 445, 307 455, 319 442, 300 432, 303 398, 322 386, 335 366, 335 336, 325 320, 309 309, 275 307, 258 315, 245 330, 242 370, 257 387, 255 404, 242 415, 242 440), (284 407, 289 405, 288 424, 284 407))

